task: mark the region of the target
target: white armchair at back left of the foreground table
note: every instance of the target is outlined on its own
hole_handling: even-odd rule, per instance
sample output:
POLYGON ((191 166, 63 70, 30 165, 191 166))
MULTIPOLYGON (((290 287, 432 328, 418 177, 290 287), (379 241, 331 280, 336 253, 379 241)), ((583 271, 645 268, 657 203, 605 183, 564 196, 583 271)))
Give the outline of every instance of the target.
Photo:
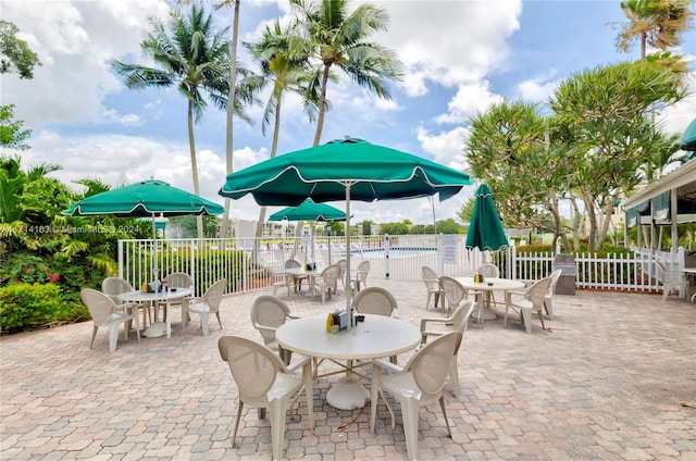
POLYGON ((299 316, 293 315, 287 304, 275 296, 261 295, 251 303, 251 325, 261 333, 265 347, 276 351, 286 365, 290 363, 293 351, 278 345, 275 332, 290 319, 299 316))

